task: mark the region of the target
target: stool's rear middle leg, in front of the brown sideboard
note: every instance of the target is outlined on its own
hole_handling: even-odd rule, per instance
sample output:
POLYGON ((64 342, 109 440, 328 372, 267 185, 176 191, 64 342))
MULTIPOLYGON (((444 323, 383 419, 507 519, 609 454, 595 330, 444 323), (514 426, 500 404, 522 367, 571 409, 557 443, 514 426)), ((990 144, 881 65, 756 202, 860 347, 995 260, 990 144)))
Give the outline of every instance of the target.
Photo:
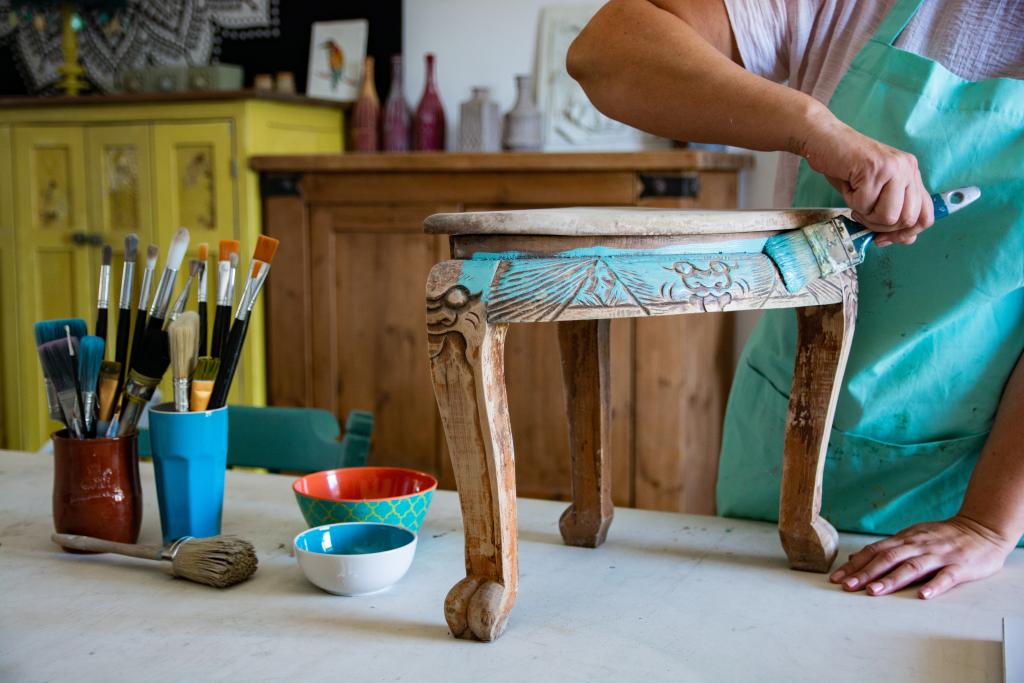
POLYGON ((559 520, 569 546, 597 548, 611 517, 608 321, 558 324, 572 457, 572 504, 559 520))

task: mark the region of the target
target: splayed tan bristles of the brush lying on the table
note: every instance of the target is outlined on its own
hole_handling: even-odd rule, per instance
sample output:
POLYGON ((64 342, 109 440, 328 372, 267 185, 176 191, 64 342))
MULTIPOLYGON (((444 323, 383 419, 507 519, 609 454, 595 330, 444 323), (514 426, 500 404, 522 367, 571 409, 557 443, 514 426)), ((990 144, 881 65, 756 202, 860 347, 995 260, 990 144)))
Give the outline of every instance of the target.
POLYGON ((215 588, 244 582, 259 564, 253 545, 234 536, 187 539, 172 548, 172 553, 171 568, 176 577, 215 588))

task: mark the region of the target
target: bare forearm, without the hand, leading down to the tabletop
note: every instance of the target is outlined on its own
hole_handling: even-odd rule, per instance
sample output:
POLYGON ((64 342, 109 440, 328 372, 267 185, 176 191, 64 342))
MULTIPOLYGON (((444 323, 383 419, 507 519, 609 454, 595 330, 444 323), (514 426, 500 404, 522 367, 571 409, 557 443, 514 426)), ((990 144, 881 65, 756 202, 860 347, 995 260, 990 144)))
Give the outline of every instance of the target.
POLYGON ((1002 390, 995 423, 971 474, 961 516, 1016 545, 1024 535, 1024 355, 1002 390))

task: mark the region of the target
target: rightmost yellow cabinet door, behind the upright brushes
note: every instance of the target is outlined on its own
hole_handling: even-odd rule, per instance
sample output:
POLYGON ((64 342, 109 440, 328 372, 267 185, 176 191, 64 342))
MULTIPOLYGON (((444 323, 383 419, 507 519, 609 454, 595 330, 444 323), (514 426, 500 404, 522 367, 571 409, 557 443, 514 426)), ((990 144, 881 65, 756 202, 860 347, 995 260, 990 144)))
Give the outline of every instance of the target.
MULTIPOLYGON (((154 181, 157 208, 156 232, 160 239, 161 265, 175 230, 188 228, 188 258, 196 258, 200 243, 210 247, 207 261, 208 326, 213 328, 216 312, 217 251, 221 240, 239 240, 238 186, 236 182, 233 125, 230 122, 167 123, 153 127, 154 181)), ((245 285, 245 265, 249 258, 243 243, 242 263, 237 278, 236 295, 245 285)), ((178 273, 175 297, 188 274, 187 259, 178 273)), ((187 310, 196 310, 196 287, 188 297, 187 310)), ((209 339, 207 330, 207 338, 209 339)), ((243 356, 243 366, 250 353, 243 356)), ((231 386, 229 400, 237 399, 245 385, 240 366, 231 386)), ((161 392, 170 399, 170 373, 161 384, 161 392)))

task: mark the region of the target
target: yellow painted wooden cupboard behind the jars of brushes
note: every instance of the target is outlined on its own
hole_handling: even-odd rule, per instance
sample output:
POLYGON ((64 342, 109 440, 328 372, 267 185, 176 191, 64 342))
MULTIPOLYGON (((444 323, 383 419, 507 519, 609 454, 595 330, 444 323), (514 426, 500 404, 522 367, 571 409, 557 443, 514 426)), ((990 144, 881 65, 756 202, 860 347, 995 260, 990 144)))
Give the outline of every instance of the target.
MULTIPOLYGON (((331 103, 252 93, 0 100, 0 447, 36 449, 55 426, 46 418, 33 324, 79 316, 92 330, 100 245, 115 250, 112 345, 129 232, 139 236, 142 262, 147 245, 160 246, 158 280, 179 226, 191 234, 190 257, 210 244, 212 273, 218 242, 241 241, 241 293, 261 224, 248 158, 340 152, 342 117, 331 103)), ((183 282, 179 274, 179 289, 183 282)), ((260 306, 232 402, 265 401, 262 319, 260 306)))

